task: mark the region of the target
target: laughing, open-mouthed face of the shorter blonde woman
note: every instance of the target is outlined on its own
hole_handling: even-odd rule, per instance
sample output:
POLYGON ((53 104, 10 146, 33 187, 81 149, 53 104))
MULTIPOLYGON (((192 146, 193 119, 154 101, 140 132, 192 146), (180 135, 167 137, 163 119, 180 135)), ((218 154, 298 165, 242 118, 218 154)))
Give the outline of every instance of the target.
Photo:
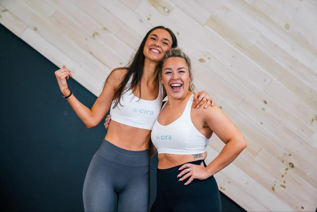
POLYGON ((187 95, 191 77, 184 58, 167 58, 162 66, 161 77, 167 96, 180 99, 187 95))

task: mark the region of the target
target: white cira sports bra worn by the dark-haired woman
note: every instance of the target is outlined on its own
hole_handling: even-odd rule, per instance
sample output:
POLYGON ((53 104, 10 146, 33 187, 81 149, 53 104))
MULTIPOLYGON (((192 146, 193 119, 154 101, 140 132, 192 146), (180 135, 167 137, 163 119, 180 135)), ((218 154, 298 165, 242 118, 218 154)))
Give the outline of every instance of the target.
MULTIPOLYGON (((127 85, 131 81, 132 76, 127 85)), ((124 92, 120 101, 122 106, 118 104, 113 108, 115 101, 111 104, 111 119, 128 126, 152 130, 162 106, 163 85, 159 83, 159 95, 155 100, 139 99, 139 97, 134 96, 131 89, 124 92)))

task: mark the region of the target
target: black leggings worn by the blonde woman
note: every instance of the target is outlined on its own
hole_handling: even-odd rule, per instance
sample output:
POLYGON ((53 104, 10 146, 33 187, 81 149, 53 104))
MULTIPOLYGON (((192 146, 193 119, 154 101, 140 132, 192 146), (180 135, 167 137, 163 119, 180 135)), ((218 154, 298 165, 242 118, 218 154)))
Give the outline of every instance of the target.
MULTIPOLYGON (((200 165, 202 161, 189 163, 200 165)), ((214 176, 205 180, 194 179, 184 185, 189 178, 178 182, 177 175, 181 172, 178 169, 181 166, 157 169, 157 194, 151 211, 221 211, 220 194, 214 176)))

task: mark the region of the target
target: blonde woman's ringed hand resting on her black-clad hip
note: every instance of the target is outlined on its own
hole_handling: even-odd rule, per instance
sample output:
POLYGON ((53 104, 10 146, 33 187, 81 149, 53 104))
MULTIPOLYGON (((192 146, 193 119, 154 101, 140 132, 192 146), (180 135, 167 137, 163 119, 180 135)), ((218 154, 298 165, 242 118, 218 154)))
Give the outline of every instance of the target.
POLYGON ((183 181, 186 178, 190 177, 189 180, 184 183, 184 185, 188 185, 189 183, 191 183, 191 181, 193 181, 193 179, 204 180, 211 176, 207 172, 207 169, 204 166, 203 162, 201 162, 200 165, 185 163, 178 170, 182 170, 182 169, 184 170, 181 171, 181 173, 179 173, 179 175, 177 176, 177 177, 182 176, 178 181, 183 181))

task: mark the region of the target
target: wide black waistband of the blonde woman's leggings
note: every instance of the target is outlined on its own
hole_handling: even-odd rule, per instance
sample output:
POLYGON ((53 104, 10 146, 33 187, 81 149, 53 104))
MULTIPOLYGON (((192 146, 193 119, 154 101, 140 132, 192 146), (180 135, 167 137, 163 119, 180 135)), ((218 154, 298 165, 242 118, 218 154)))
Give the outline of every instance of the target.
MULTIPOLYGON (((201 162, 204 163, 205 167, 207 166, 204 160, 191 161, 187 163, 200 165, 201 162)), ((169 169, 157 169, 157 172, 156 172, 157 190, 168 191, 168 190, 177 189, 177 188, 185 186, 184 183, 187 182, 189 177, 183 181, 178 181, 180 177, 177 177, 178 174, 182 171, 182 170, 178 170, 182 165, 174 166, 169 169)), ((196 179, 194 179, 194 181, 195 180, 196 179)))

